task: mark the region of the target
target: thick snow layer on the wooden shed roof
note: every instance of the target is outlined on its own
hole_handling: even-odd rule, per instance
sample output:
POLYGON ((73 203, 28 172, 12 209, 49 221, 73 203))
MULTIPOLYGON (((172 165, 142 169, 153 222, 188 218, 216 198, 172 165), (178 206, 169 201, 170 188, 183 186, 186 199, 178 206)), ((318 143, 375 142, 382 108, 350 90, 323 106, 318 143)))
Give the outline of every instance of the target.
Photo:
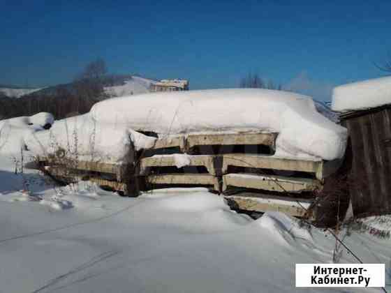
POLYGON ((391 77, 353 82, 334 88, 332 110, 348 112, 391 104, 391 77))

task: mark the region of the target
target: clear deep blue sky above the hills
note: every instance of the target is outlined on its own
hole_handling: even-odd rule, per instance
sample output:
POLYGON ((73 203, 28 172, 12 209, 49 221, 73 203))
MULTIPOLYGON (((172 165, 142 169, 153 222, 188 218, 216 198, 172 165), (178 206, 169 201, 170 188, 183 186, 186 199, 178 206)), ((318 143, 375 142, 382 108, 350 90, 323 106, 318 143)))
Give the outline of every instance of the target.
POLYGON ((379 77, 391 1, 6 1, 0 84, 68 82, 102 57, 112 73, 237 87, 250 70, 309 87, 379 77))

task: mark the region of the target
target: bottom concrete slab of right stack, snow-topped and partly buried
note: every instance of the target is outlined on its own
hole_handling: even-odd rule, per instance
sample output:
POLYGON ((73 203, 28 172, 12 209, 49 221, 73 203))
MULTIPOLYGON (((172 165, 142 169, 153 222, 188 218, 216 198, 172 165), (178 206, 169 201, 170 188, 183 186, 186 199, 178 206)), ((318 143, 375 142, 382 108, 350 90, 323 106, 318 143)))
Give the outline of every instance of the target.
MULTIPOLYGON (((307 216, 307 210, 303 209, 302 206, 307 208, 307 206, 309 206, 312 202, 311 200, 296 200, 290 197, 265 195, 247 197, 242 194, 226 196, 226 199, 232 200, 235 202, 238 209, 242 209, 244 211, 258 211, 263 213, 266 211, 279 211, 295 217, 307 216), (299 201, 302 206, 300 206, 297 201, 299 201)), ((314 216, 311 216, 310 220, 312 220, 313 217, 314 216)))

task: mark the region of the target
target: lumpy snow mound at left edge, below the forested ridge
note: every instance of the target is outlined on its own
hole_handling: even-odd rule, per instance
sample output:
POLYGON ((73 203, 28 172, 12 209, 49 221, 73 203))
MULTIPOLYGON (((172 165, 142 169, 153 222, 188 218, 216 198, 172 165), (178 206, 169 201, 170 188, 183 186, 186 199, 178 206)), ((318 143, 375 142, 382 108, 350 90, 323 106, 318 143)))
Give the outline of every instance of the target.
POLYGON ((30 117, 16 117, 0 121, 0 153, 15 153, 24 149, 26 137, 52 125, 54 117, 41 112, 30 117))

